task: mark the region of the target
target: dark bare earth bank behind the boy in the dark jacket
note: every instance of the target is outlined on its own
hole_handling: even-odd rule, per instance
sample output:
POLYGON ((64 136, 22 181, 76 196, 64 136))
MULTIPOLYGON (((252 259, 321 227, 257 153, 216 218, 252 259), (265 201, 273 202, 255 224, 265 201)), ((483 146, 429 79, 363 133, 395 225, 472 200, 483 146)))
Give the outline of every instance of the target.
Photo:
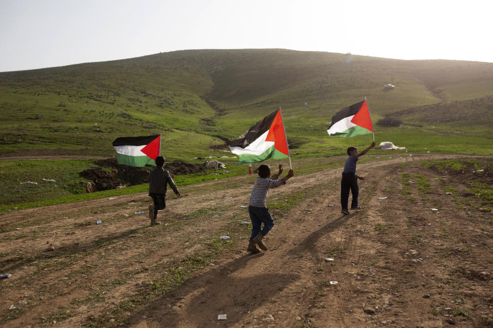
MULTIPOLYGON (((80 173, 82 177, 91 180, 84 186, 87 192, 116 189, 122 186, 134 186, 149 182, 149 172, 155 168, 153 166, 136 168, 121 165, 115 157, 98 160, 96 165, 100 166, 100 168, 88 169, 80 173)), ((200 173, 204 171, 205 163, 198 166, 194 163, 177 160, 166 162, 164 169, 168 170, 171 176, 200 173)))

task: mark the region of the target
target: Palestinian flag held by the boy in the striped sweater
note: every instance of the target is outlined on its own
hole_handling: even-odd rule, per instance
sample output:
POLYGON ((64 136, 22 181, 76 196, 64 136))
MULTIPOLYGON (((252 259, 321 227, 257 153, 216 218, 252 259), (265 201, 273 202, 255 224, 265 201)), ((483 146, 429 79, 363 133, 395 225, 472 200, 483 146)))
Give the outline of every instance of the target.
POLYGON ((281 109, 256 122, 247 132, 230 141, 230 150, 238 155, 238 164, 288 157, 288 140, 281 109))

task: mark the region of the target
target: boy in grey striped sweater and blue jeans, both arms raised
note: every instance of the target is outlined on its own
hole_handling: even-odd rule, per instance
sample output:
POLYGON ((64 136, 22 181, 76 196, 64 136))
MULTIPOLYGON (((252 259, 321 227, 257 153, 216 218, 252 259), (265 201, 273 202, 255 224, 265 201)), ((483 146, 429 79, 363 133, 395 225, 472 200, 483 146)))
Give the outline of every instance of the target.
POLYGON ((248 252, 260 253, 257 248, 267 251, 267 246, 262 239, 274 227, 274 220, 266 205, 267 193, 269 188, 277 188, 281 185, 286 185, 286 181, 294 175, 293 170, 289 170, 288 174, 279 179, 282 173, 282 164, 279 164, 279 172, 271 177, 271 169, 268 165, 262 164, 258 167, 258 178, 253 185, 252 194, 248 203, 248 213, 252 220, 252 235, 248 243, 248 252), (263 228, 261 228, 263 222, 263 228))

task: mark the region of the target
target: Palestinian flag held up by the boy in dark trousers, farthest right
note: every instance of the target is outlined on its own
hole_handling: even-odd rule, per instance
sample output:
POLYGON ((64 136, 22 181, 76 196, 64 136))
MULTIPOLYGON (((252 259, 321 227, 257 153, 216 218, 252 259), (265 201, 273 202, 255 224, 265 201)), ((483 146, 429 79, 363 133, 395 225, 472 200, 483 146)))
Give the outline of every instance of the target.
POLYGON ((366 100, 338 111, 332 116, 332 124, 327 130, 329 135, 354 137, 373 132, 370 112, 366 100))

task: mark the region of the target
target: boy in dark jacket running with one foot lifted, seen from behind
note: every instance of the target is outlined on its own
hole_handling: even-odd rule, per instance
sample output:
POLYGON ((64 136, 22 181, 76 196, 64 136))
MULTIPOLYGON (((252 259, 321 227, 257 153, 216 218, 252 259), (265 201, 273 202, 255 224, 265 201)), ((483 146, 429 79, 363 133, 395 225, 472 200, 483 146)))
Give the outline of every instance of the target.
POLYGON ((153 204, 149 205, 150 226, 156 226, 160 222, 156 220, 159 210, 164 210, 166 207, 166 190, 167 185, 173 189, 175 194, 180 197, 181 194, 175 185, 175 182, 169 175, 169 172, 164 170, 164 157, 156 157, 156 169, 149 174, 149 196, 153 198, 153 204))

